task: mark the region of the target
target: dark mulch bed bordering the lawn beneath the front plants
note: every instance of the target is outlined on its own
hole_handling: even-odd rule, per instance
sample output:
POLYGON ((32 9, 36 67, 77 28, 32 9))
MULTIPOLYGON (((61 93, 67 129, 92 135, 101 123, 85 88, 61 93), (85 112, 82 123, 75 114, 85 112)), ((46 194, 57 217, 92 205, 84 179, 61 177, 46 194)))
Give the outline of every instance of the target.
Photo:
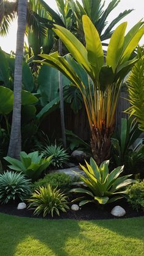
MULTIPOLYGON (((16 215, 20 217, 29 217, 29 218, 43 218, 42 215, 34 216, 31 210, 17 210, 18 204, 7 204, 7 205, 0 205, 0 213, 6 213, 10 215, 16 215)), ((120 205, 121 207, 126 210, 126 215, 122 218, 132 218, 132 217, 139 217, 144 216, 144 211, 137 211, 132 210, 132 208, 128 205, 126 200, 119 200, 113 204, 106 205, 103 208, 98 208, 96 205, 87 204, 84 205, 81 210, 79 211, 72 211, 69 210, 67 213, 61 213, 59 216, 51 216, 45 217, 45 219, 77 219, 77 220, 92 220, 92 219, 115 219, 116 217, 110 214, 110 211, 116 205, 120 205)))

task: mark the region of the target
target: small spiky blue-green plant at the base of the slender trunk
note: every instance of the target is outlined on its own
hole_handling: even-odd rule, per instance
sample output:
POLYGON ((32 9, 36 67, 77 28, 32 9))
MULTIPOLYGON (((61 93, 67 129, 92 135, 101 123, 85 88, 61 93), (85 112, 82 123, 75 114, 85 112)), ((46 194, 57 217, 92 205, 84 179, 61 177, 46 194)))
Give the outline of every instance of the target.
POLYGON ((42 153, 46 157, 52 155, 51 165, 56 169, 61 168, 69 159, 68 153, 62 148, 61 145, 47 146, 44 148, 42 153))

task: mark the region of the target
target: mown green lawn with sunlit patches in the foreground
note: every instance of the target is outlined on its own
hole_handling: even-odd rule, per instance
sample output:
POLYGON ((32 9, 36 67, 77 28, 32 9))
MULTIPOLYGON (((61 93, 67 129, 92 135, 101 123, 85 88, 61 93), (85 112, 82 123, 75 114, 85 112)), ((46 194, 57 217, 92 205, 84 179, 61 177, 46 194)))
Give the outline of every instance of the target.
POLYGON ((144 218, 43 220, 0 214, 0 255, 144 255, 144 218))

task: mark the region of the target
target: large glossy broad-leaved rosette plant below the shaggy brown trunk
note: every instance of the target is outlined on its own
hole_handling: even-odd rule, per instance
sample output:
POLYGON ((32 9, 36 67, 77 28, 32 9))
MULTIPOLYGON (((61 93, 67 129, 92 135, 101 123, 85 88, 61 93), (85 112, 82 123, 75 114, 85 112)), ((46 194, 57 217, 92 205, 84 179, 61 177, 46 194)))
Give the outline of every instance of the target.
POLYGON ((85 175, 78 174, 87 188, 74 188, 70 192, 80 193, 81 197, 74 199, 73 202, 80 201, 79 206, 85 203, 106 203, 115 202, 118 199, 126 196, 126 186, 134 182, 129 179, 131 175, 119 177, 123 172, 123 167, 120 166, 112 170, 109 174, 109 160, 104 161, 100 167, 97 166, 93 158, 90 158, 90 164, 87 163, 87 168, 80 165, 84 170, 85 175))

